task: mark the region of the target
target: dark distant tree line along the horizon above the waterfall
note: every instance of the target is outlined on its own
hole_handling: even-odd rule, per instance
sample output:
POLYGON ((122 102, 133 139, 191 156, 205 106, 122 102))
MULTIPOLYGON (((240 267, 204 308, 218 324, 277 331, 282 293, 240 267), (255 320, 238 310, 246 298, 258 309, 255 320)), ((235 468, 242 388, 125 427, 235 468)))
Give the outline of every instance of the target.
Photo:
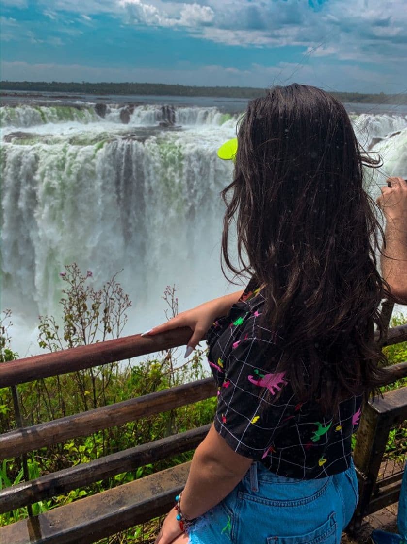
MULTIPOLYGON (((208 96, 218 98, 257 98, 265 94, 266 89, 252 87, 229 86, 194 86, 170 85, 165 83, 88 83, 88 82, 32 82, 1 81, 3 91, 37 91, 37 92, 79 92, 81 94, 98 95, 156 95, 156 96, 208 96)), ((331 92, 341 102, 366 102, 407 104, 407 93, 387 95, 361 92, 331 92)))

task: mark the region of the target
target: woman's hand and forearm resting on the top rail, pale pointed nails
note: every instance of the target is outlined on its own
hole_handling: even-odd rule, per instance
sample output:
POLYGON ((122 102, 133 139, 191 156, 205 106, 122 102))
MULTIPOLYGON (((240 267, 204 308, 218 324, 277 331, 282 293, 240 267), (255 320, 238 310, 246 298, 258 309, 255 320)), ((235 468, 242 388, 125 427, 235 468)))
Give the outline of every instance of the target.
POLYGON ((217 299, 204 302, 191 310, 181 312, 162 325, 153 327, 141 336, 154 336, 160 332, 178 329, 178 327, 190 327, 192 336, 187 343, 185 357, 191 355, 196 345, 206 336, 209 327, 214 323, 217 317, 226 316, 230 312, 231 306, 240 299, 243 290, 220 296, 217 299))

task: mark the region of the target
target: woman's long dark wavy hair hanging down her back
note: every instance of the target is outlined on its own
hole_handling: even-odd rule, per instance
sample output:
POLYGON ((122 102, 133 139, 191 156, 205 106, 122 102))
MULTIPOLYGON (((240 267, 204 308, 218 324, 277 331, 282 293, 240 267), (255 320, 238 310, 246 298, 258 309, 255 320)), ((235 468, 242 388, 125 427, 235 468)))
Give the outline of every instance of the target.
POLYGON ((379 161, 361 153, 339 101, 296 83, 250 102, 237 139, 234 179, 221 193, 224 262, 265 285, 262 325, 282 337, 279 370, 299 400, 331 412, 383 379, 374 324, 380 341, 384 233, 363 186, 363 166, 379 161), (233 221, 240 269, 228 252, 233 221))

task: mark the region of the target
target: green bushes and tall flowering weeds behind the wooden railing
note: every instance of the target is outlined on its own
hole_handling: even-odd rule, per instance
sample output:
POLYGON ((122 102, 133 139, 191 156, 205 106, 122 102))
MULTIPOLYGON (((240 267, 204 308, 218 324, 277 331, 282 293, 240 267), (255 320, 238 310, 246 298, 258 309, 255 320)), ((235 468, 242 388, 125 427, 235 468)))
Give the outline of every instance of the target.
MULTIPOLYGON (((89 344, 121 335, 127 321, 126 311, 131 305, 128 296, 116 281, 117 274, 101 289, 91 285, 90 270, 82 273, 76 264, 68 265, 60 273, 64 285, 60 304, 62 319, 40 316, 39 345, 47 351, 89 344)), ((167 310, 166 317, 178 313, 178 299, 175 288, 167 286, 162 299, 167 310)), ((392 319, 391 326, 405 323, 402 316, 392 319)), ((3 312, 0 319, 0 364, 18 357, 10 347, 10 311, 3 312)), ((407 342, 385 348, 391 364, 407 360, 407 342)), ((177 366, 176 350, 168 350, 159 356, 141 362, 111 363, 71 374, 54 376, 18 386, 24 424, 34 425, 117 403, 154 391, 198 380, 206 376, 203 360, 204 351, 195 350, 189 361, 177 366)), ((407 385, 407 379, 399 380, 385 390, 407 385)), ((14 410, 9 388, 0 388, 0 433, 15 428, 14 410)), ((183 406, 156 416, 143 417, 115 428, 104 429, 91 436, 78 437, 66 443, 41 448, 27 455, 30 479, 41 474, 58 471, 78 463, 84 463, 104 455, 151 442, 183 432, 213 419, 216 399, 183 406)), ((386 447, 386 459, 402 461, 407 448, 407 428, 399 425, 393 429, 386 447)), ((89 496, 105 489, 127 483, 136 478, 192 458, 193 452, 179 454, 173 458, 135 468, 134 471, 117 474, 97 481, 85 489, 70 491, 33 505, 34 515, 56 506, 70 503, 83 496, 89 496)), ((0 489, 17 484, 23 478, 20 459, 4 459, 0 464, 0 489)), ((0 526, 27 517, 27 509, 20 508, 0 515, 0 526)), ((123 531, 99 544, 136 544, 154 542, 159 519, 123 531)))

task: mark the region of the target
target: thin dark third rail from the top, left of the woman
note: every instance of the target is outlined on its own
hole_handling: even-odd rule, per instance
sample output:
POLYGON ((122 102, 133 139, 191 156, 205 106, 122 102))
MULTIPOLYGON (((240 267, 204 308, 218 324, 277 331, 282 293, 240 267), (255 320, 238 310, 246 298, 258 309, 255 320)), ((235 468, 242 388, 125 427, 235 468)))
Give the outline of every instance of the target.
POLYGON ((0 514, 187 452, 202 442, 209 428, 203 425, 7 487, 0 491, 0 514))

